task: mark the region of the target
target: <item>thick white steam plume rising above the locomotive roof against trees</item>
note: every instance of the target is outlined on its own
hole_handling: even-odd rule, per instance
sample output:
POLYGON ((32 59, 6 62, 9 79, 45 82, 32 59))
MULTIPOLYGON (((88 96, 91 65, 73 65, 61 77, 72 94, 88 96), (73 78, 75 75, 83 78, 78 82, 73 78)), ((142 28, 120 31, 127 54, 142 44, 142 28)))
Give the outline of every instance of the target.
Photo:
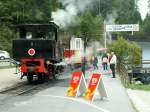
POLYGON ((67 27, 70 24, 77 24, 75 16, 79 12, 83 12, 85 8, 93 0, 59 0, 65 9, 58 9, 56 12, 52 12, 53 21, 60 27, 67 27))

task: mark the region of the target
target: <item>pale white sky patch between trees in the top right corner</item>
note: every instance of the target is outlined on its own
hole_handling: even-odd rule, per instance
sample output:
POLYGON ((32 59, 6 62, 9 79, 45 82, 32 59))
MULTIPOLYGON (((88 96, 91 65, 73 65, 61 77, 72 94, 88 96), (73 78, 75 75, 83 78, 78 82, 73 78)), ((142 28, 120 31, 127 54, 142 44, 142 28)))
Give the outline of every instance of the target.
POLYGON ((148 0, 139 0, 138 2, 138 6, 139 6, 139 9, 140 9, 140 13, 141 13, 141 16, 142 16, 142 19, 145 18, 146 14, 147 14, 147 11, 148 11, 148 3, 147 3, 148 0))

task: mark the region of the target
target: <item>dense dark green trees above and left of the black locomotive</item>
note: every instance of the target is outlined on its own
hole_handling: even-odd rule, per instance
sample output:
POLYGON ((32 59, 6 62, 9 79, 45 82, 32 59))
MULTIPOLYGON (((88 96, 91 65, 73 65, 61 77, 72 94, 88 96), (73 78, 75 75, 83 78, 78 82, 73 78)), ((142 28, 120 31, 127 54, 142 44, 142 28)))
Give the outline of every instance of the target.
POLYGON ((11 50, 15 37, 13 24, 22 21, 50 21, 51 12, 59 7, 58 0, 1 0, 0 47, 11 50))

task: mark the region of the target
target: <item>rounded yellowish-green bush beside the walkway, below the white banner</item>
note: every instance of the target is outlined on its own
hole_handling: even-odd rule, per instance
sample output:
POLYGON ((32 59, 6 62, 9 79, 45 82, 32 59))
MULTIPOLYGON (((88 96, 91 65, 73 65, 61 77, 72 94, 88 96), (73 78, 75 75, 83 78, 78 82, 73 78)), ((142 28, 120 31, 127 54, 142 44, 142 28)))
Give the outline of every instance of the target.
POLYGON ((141 48, 136 43, 130 43, 122 37, 118 38, 117 41, 113 41, 108 46, 108 49, 109 52, 115 52, 118 69, 126 62, 130 63, 133 67, 141 63, 141 48))

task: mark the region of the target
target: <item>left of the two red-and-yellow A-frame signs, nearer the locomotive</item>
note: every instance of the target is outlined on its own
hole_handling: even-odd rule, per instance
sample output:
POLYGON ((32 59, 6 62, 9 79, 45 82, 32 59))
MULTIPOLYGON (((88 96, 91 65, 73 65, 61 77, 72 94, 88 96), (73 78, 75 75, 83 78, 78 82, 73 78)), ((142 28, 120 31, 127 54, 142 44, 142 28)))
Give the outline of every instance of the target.
POLYGON ((81 71, 73 72, 66 95, 76 97, 79 91, 83 94, 84 90, 86 90, 86 83, 83 73, 81 71))

